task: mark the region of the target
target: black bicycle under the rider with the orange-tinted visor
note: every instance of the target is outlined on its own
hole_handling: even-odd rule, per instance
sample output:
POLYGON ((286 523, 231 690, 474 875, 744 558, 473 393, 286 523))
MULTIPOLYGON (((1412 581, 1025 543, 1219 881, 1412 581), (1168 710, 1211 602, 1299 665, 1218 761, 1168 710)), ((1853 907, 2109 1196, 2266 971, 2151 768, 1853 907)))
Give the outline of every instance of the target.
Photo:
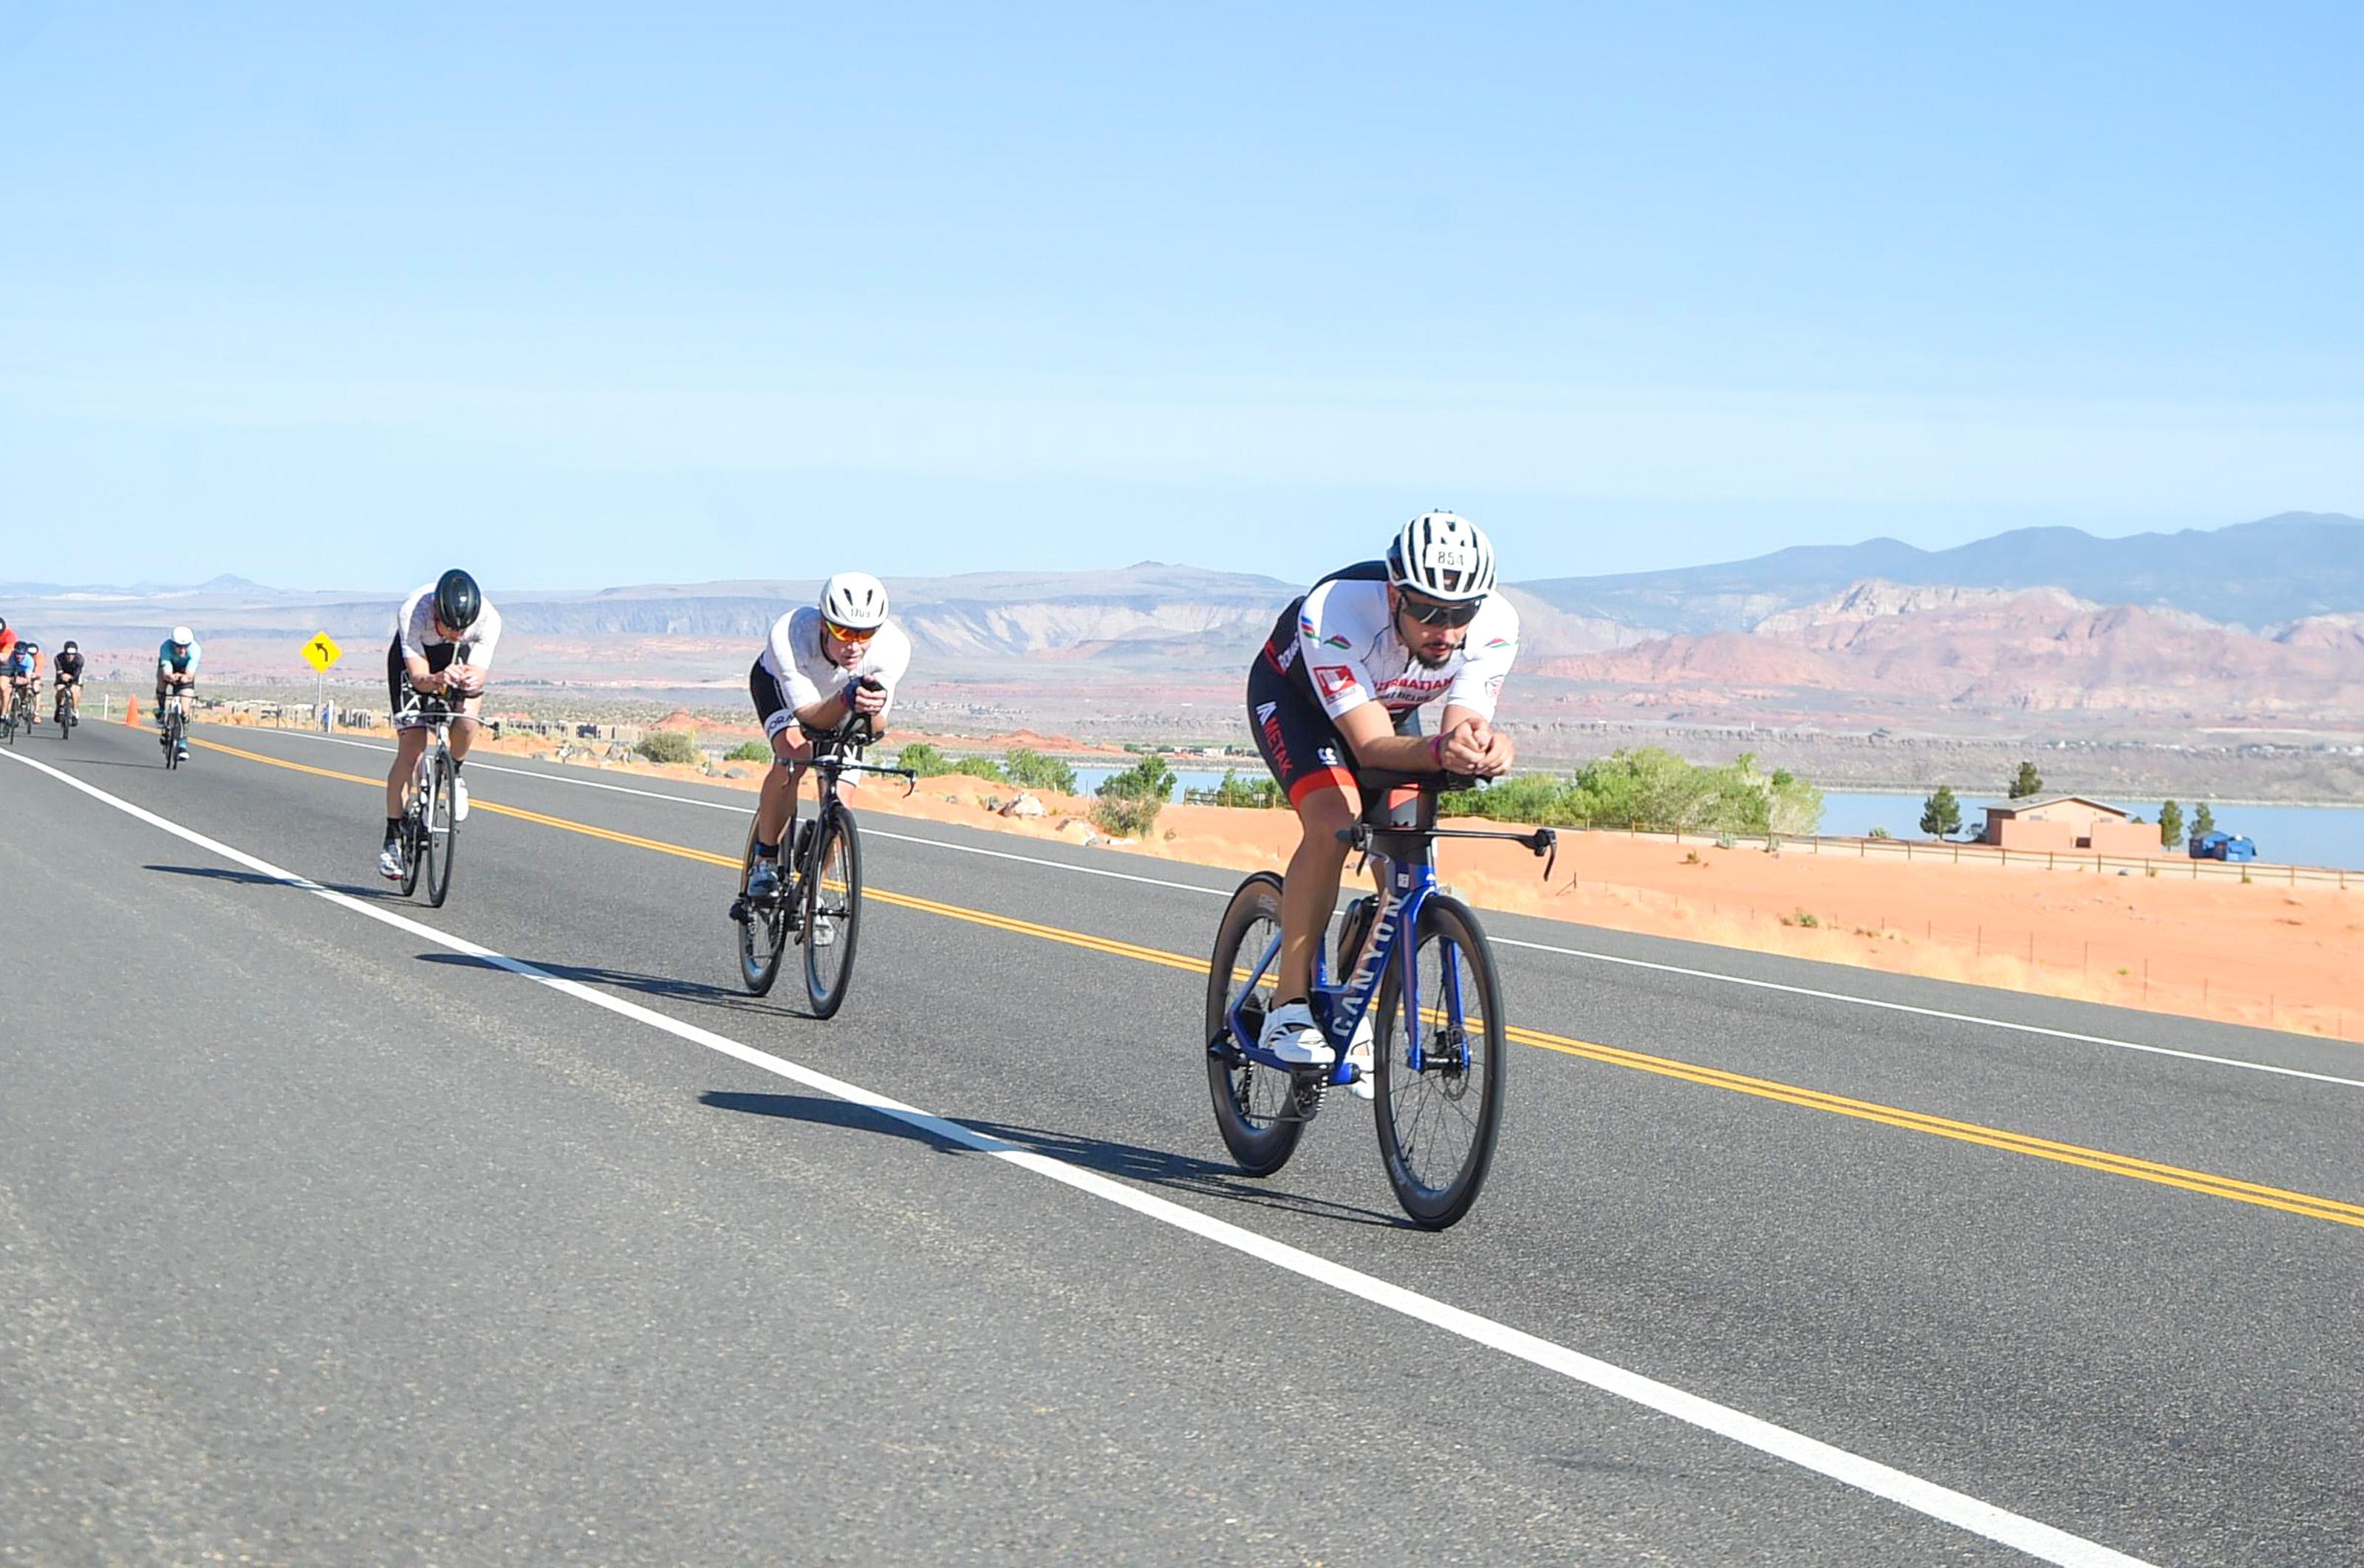
POLYGON ((747 984, 747 993, 766 996, 771 991, 771 981, 780 977, 787 944, 794 939, 804 944, 804 993, 816 1019, 837 1017, 846 1003, 863 913, 863 840, 853 828, 853 811, 837 792, 837 780, 844 773, 901 778, 905 795, 920 785, 920 776, 910 769, 863 762, 860 750, 870 740, 865 717, 813 738, 811 769, 818 778, 820 809, 808 821, 797 823, 794 847, 782 856, 780 892, 764 899, 747 892, 747 882, 754 877, 756 842, 756 825, 747 823, 738 899, 730 901, 730 920, 738 925, 740 979, 747 984))

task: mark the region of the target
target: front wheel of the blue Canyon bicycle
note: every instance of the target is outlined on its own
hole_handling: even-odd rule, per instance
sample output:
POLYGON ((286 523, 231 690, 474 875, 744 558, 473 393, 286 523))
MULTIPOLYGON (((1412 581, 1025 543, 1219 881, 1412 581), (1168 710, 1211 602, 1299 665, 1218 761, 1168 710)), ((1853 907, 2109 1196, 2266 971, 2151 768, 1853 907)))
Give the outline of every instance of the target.
POLYGON ((1378 1154, 1404 1213, 1444 1230, 1478 1201, 1501 1138, 1501 974, 1475 915, 1442 894, 1421 908, 1411 970, 1418 1010, 1404 1005, 1402 955, 1388 963, 1373 1010, 1378 1154))

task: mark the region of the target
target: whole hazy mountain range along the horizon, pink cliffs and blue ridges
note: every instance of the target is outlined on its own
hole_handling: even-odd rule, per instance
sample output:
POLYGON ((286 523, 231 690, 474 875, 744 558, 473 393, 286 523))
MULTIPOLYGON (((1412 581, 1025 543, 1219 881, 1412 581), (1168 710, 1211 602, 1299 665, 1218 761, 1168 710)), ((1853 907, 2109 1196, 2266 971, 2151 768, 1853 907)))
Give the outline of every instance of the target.
MULTIPOLYGON (((891 587, 931 683, 1092 686, 1149 707, 1236 686, 1303 584, 1142 561, 891 587)), ((816 589, 496 587, 501 662, 522 679, 735 683, 771 622, 816 589)), ((2364 731, 2364 523, 2345 516, 2130 539, 2045 527, 1948 551, 1872 539, 1508 594, 1525 622, 1520 686, 1553 717, 1853 724, 1950 712, 2009 724, 2116 712, 2168 726, 2364 731)), ((345 643, 348 669, 374 669, 395 605, 397 594, 300 594, 241 577, 196 589, 0 584, 0 615, 50 641, 71 634, 139 655, 189 622, 225 674, 296 674, 314 631, 345 643)))

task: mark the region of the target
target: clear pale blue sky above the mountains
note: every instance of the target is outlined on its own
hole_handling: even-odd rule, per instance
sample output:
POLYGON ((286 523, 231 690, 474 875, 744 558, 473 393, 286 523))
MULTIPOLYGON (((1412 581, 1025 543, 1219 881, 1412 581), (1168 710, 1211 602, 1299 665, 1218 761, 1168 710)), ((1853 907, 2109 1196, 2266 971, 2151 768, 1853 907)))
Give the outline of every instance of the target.
POLYGON ((2357 59, 2355 5, 0 0, 7 575, 2364 513, 2357 59))

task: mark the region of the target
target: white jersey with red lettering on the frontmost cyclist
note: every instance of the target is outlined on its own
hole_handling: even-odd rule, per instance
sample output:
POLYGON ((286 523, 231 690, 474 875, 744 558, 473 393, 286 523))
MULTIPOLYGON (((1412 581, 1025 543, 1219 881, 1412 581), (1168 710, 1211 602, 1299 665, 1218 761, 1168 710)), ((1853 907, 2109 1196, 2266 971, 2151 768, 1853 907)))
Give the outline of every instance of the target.
MULTIPOLYGON (((1369 570, 1369 568, 1350 568, 1369 570)), ((1444 700, 1480 719, 1494 719, 1504 676, 1518 657, 1518 610, 1501 594, 1489 594, 1470 622, 1461 648, 1430 669, 1411 657, 1388 615, 1388 582, 1369 577, 1331 577, 1317 582, 1295 605, 1295 631, 1286 643, 1274 639, 1274 662, 1281 674, 1303 679, 1321 712, 1331 719, 1378 702, 1390 717, 1444 700)), ((1286 624, 1286 622, 1284 622, 1286 624)))

